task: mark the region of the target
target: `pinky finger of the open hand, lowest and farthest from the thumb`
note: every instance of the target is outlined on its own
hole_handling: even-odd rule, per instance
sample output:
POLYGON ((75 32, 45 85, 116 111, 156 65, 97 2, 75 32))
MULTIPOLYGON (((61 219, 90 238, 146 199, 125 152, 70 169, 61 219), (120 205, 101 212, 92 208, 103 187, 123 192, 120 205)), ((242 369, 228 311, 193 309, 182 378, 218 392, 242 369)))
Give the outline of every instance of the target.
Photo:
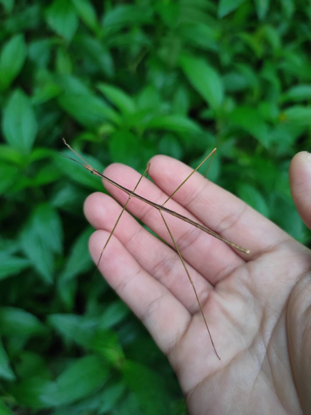
MULTIPOLYGON (((89 239, 89 251, 95 263, 108 236, 108 232, 96 231, 89 239)), ((111 237, 102 259, 99 271, 167 353, 189 325, 188 310, 142 269, 118 238, 111 237)))

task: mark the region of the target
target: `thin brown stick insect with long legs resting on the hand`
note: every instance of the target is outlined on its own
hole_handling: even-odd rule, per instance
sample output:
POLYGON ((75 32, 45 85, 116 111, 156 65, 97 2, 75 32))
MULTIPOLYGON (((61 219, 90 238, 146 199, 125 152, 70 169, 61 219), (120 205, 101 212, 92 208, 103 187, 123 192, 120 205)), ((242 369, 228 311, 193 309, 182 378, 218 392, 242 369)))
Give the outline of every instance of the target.
MULTIPOLYGON (((80 163, 79 161, 77 161, 77 160, 75 160, 75 159, 72 159, 71 157, 68 157, 69 159, 71 159, 71 160, 73 160, 73 161, 76 161, 77 163, 80 163, 80 164, 82 164, 82 166, 84 166, 84 168, 86 168, 87 170, 89 170, 92 174, 95 174, 96 176, 99 176, 99 177, 101 177, 102 179, 104 179, 105 181, 107 181, 108 183, 111 183, 113 186, 116 186, 117 188, 119 188, 119 189, 121 189, 121 190, 123 190, 123 192, 125 192, 125 193, 127 193, 128 194, 128 200, 126 201, 126 203, 125 203, 125 205, 124 205, 124 207, 123 207, 123 209, 122 209, 122 211, 121 211, 121 213, 120 213, 120 215, 118 216, 118 219, 116 220, 116 223, 115 223, 115 225, 113 226, 113 229, 112 229, 112 231, 111 231, 111 233, 110 233, 110 235, 109 235, 109 237, 108 237, 108 239, 107 239, 107 241, 106 241, 106 244, 104 245, 104 248, 102 249, 102 251, 101 251, 101 254, 100 254, 100 256, 99 256, 99 260, 98 260, 98 262, 97 262, 97 268, 99 267, 99 262, 100 262, 100 260, 101 260, 101 257, 102 257, 102 255, 103 255, 103 253, 104 253, 104 250, 105 250, 105 248, 106 248, 106 246, 107 246, 107 244, 108 244, 108 242, 109 242, 109 240, 111 239, 111 236, 112 236, 112 234, 113 234, 113 232, 114 232, 114 230, 116 229, 116 226, 118 225, 118 222, 119 222, 119 220, 120 220, 120 218, 121 218, 121 216, 122 216, 122 214, 123 214, 123 212, 124 212, 124 210, 125 210, 125 208, 126 208, 126 206, 128 205, 128 202, 130 201, 130 199, 133 197, 133 198, 137 198, 137 199, 139 199, 139 200, 142 200, 142 202, 145 202, 145 203, 147 203, 148 205, 151 205, 151 206, 153 206, 155 209, 157 209, 158 211, 159 211, 159 213, 160 213, 160 215, 161 215, 161 217, 162 217, 162 220, 163 220, 163 222, 164 222, 164 225, 166 226, 166 229, 168 230, 168 232, 169 232, 169 235, 170 235, 170 237, 171 237, 171 240, 172 240, 172 242, 173 242, 173 244, 174 244, 174 247, 175 247, 175 249, 176 249, 176 252, 177 252, 177 254, 178 254, 178 256, 179 256, 179 258, 180 258, 180 260, 181 260, 181 262, 182 262, 182 264, 183 264, 183 267, 184 267, 184 269, 185 269, 185 271, 186 271, 186 273, 187 273, 187 276, 188 276, 188 278, 189 278, 189 281, 190 281, 190 283, 191 283, 191 285, 192 285, 192 288, 193 288, 193 291, 194 291, 194 293, 195 293, 195 297, 196 297, 196 300, 197 300, 197 302, 198 302, 198 305, 199 305, 199 308, 200 308, 200 312, 201 312, 201 315, 202 315, 202 317, 203 317, 203 320, 204 320, 204 323, 205 323, 205 326, 206 326, 206 328, 207 328, 207 332, 208 332, 208 335, 209 335, 209 337, 210 337, 210 341, 211 341, 211 343, 212 343, 212 347, 213 347, 213 349, 214 349, 214 351, 215 351, 215 354, 216 354, 216 356, 218 357, 218 359, 220 360, 220 357, 219 357, 219 355, 218 355, 218 353, 217 353, 217 351, 216 351, 216 348, 215 348, 215 344, 214 344, 214 342, 213 342, 213 340, 212 340, 212 335, 211 335, 211 333, 210 333, 210 330, 209 330, 209 328, 208 328, 208 325, 207 325, 207 322, 206 322, 206 320, 205 320, 205 316, 204 316, 204 313, 203 313, 203 309, 202 309, 202 306, 201 306, 201 303, 200 303, 200 300, 199 300, 199 297, 198 297, 198 294, 197 294, 197 291, 196 291, 196 289, 195 289, 195 286, 194 286, 194 283, 193 283, 193 280, 192 280, 192 278, 190 277, 190 273, 189 273, 189 271, 188 271, 188 269, 187 269, 187 266, 186 266, 186 263, 185 263, 185 261, 183 260, 183 257, 181 256, 181 253, 180 253, 180 251, 179 251, 179 249, 178 249, 178 247, 177 247, 177 244, 176 244, 176 242, 175 242, 175 239, 174 239, 174 237, 173 237, 173 235, 172 235, 172 233, 171 233, 171 231, 170 231, 170 229, 169 229, 169 226, 167 225, 167 223, 166 223, 166 220, 164 219, 164 216, 163 216, 163 214, 162 214, 162 212, 166 212, 166 213, 168 213, 169 215, 172 215, 172 216, 175 216, 175 217, 177 217, 178 219, 181 219, 181 220, 183 220, 184 222, 188 222, 188 223, 190 223, 190 225, 193 225, 193 226, 195 226, 195 227, 197 227, 198 229, 201 229, 201 230, 203 230, 204 232, 206 232, 207 234, 210 234, 210 235, 212 235, 213 237, 215 237, 215 238, 217 238, 217 239, 220 239, 221 241, 223 241, 223 242, 225 242, 226 244, 228 244, 229 246, 231 246, 232 248, 235 248, 235 249, 237 249, 238 251, 240 251, 240 252, 243 252, 244 254, 249 254, 250 253, 250 251, 249 251, 249 249, 246 249, 246 248, 242 248, 241 246, 239 246, 239 245, 237 245, 237 244, 235 244, 234 242, 231 242, 231 241, 229 241, 228 239, 226 239, 226 238, 224 238, 224 237, 222 237, 222 236, 220 236, 219 234, 217 234, 216 232, 214 232, 214 231, 212 231, 211 229, 208 229, 207 227, 205 227, 205 226, 203 226, 203 225, 201 225, 200 223, 197 223, 197 222, 195 222, 195 221, 193 221, 193 220, 191 220, 191 219, 189 219, 188 217, 186 217, 186 216, 183 216, 183 215, 181 215, 181 214, 179 214, 179 213, 177 213, 177 212, 175 212, 174 210, 170 210, 170 209, 168 209, 167 207, 165 207, 164 205, 165 205, 165 203, 166 202, 168 202, 168 200, 169 199, 171 199, 171 197, 177 192, 177 190, 178 189, 180 189, 181 188, 181 186, 183 186, 183 184, 188 180, 188 178, 190 177, 190 176, 192 176, 193 175, 193 173, 195 173, 195 171, 197 171, 198 170, 198 168, 200 167, 200 166, 202 166, 202 164, 210 157, 210 156, 213 156, 214 155, 214 153, 215 153, 215 151, 216 151, 216 149, 214 149, 213 151, 211 151, 210 152, 210 154, 198 165, 198 167, 196 167, 190 174, 189 174, 189 176, 174 190, 174 192, 165 200, 165 202, 164 203, 162 203, 162 205, 159 205, 159 204, 157 204, 157 203, 154 203, 154 202, 152 202, 151 200, 148 200, 148 199, 146 199, 146 198, 143 198, 142 196, 140 196, 140 195, 137 195, 137 193, 135 193, 135 190, 136 190, 136 188, 137 188, 137 186, 139 185, 139 183, 140 183, 140 181, 141 181, 141 179, 142 179, 142 177, 145 175, 145 173, 147 173, 148 174, 148 170, 149 170, 149 166, 150 166, 150 163, 148 163, 147 164, 147 167, 146 167, 146 169, 145 169, 145 171, 144 171, 144 173, 142 173, 142 175, 140 176, 140 179, 139 179, 139 181, 137 182, 137 184, 136 184, 136 186, 135 186, 135 188, 134 188, 134 190, 132 191, 132 190, 129 190, 129 189, 127 189, 127 188, 125 188, 125 187, 123 187, 123 186, 121 186, 120 184, 118 184, 118 183, 116 183, 115 181, 113 181, 113 180, 111 180, 111 179, 109 179, 108 177, 106 177, 106 176, 104 176, 103 174, 101 174, 101 173, 99 173, 99 171, 97 171, 97 170, 95 170, 90 164, 88 164, 87 163, 87 161, 85 161, 84 159, 82 159, 82 157, 80 156, 80 154, 78 154, 75 150, 73 150, 71 147, 70 147, 70 145, 69 144, 67 144, 66 143, 66 141, 65 141, 65 139, 63 139, 63 142, 65 143, 65 145, 71 150, 71 151, 73 151, 73 153, 75 153, 84 163, 80 163)), ((212 157, 211 157, 211 160, 210 160, 210 162, 212 161, 212 157)), ((210 166, 210 165, 209 165, 210 166)))

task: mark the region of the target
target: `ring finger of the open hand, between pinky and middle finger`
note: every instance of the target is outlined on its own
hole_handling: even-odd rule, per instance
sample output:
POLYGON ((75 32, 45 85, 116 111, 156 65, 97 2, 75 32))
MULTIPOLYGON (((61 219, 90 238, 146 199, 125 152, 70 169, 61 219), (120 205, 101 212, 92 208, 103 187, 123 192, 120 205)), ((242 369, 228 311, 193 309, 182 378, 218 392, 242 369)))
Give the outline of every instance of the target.
MULTIPOLYGON (((104 193, 93 193, 84 203, 87 220, 96 229, 111 232, 120 212, 121 206, 104 193)), ((142 269, 162 283, 191 314, 198 311, 195 294, 176 251, 148 232, 126 211, 123 212, 113 235, 142 269)), ((102 243, 101 248, 105 243, 106 241, 102 243)), ((204 303, 212 286, 189 264, 187 268, 199 298, 204 303)))

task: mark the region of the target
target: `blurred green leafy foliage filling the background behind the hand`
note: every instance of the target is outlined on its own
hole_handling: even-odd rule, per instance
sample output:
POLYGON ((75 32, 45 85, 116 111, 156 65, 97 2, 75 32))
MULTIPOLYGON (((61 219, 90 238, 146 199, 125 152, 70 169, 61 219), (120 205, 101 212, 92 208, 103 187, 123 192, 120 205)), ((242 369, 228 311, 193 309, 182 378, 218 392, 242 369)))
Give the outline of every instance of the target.
MULTIPOLYGON (((185 414, 165 356, 87 251, 102 170, 196 166, 300 242, 311 149, 307 0, 0 0, 1 414, 185 414)), ((191 289, 191 288, 189 288, 191 289)))

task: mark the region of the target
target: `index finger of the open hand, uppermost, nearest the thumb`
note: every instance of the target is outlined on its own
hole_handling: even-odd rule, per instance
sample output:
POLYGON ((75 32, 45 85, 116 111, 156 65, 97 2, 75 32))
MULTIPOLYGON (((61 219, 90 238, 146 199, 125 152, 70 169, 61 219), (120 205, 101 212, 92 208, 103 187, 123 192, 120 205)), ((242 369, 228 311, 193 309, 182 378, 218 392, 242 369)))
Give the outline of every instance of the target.
MULTIPOLYGON (((165 193, 171 193, 191 173, 185 164, 167 156, 151 159, 149 175, 165 193)), ((262 251, 287 240, 288 235, 279 227, 252 209, 227 190, 193 174, 173 196, 195 217, 223 237, 251 251, 251 259, 262 251)))

